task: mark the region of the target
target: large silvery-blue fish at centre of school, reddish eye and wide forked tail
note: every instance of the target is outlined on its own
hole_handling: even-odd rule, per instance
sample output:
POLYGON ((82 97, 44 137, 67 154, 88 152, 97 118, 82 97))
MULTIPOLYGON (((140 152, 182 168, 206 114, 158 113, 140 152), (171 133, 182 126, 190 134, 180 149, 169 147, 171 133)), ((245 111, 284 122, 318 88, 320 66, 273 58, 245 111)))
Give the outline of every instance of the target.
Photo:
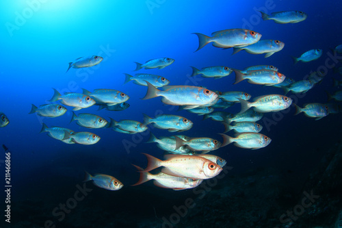
POLYGON ((162 97, 161 102, 167 105, 186 105, 185 110, 208 105, 218 99, 215 92, 198 86, 163 86, 164 90, 161 91, 148 81, 146 83, 148 90, 143 100, 162 97))

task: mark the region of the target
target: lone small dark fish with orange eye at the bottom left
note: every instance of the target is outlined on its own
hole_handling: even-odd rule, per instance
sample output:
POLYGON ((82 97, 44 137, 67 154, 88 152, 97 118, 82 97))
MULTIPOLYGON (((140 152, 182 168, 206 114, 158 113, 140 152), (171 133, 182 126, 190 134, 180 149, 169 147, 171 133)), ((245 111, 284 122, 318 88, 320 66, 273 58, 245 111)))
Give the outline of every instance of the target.
POLYGON ((86 178, 83 182, 93 181, 94 185, 98 188, 104 188, 105 190, 116 191, 120 190, 124 185, 115 177, 111 177, 105 174, 96 174, 94 176, 86 172, 86 178))

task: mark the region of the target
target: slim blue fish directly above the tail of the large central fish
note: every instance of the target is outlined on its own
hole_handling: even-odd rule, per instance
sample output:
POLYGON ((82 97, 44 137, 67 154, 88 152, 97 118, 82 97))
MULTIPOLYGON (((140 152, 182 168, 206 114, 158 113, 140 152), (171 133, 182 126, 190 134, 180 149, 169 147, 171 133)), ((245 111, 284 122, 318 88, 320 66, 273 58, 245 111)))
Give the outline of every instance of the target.
POLYGON ((148 81, 150 84, 155 86, 155 88, 161 87, 161 86, 167 86, 170 84, 170 81, 166 79, 165 77, 161 77, 159 75, 148 75, 148 74, 135 74, 135 76, 124 74, 126 75, 126 79, 124 80, 124 84, 127 84, 129 81, 133 81, 134 84, 140 85, 140 86, 147 86, 146 81, 148 81))

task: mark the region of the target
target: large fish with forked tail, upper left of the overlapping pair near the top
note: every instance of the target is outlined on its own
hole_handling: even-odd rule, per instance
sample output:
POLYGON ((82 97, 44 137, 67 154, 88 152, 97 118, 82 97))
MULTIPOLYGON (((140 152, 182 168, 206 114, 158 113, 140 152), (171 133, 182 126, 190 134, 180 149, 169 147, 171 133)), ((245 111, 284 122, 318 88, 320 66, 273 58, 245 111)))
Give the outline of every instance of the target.
POLYGON ((221 47, 228 49, 230 47, 245 47, 258 42, 261 38, 261 34, 248 29, 226 29, 221 31, 215 31, 211 34, 211 37, 203 34, 194 33, 198 36, 198 51, 213 42, 213 47, 221 47))

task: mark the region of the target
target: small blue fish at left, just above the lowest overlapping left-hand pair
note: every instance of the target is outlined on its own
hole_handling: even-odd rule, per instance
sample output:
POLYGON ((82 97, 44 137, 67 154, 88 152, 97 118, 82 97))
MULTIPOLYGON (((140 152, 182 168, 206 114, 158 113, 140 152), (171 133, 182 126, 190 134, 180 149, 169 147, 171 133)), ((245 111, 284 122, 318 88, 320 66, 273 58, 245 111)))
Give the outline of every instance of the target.
POLYGON ((101 116, 88 113, 80 113, 79 116, 76 116, 75 112, 73 112, 73 117, 71 118, 70 123, 73 121, 77 121, 77 125, 87 128, 102 128, 106 127, 108 123, 101 116))

